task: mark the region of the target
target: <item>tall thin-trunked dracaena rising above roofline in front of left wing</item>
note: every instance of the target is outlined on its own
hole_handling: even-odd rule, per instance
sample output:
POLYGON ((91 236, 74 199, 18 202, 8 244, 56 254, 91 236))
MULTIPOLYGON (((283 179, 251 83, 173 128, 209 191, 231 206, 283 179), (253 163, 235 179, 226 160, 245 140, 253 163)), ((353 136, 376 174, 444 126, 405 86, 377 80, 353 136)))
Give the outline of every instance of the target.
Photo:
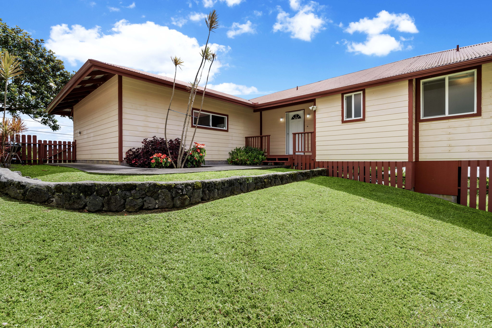
MULTIPOLYGON (((179 154, 178 154, 176 160, 171 158, 173 166, 175 168, 176 167, 177 168, 183 168, 184 167, 184 164, 185 164, 186 158, 187 158, 187 156, 185 156, 185 154, 188 154, 190 149, 193 148, 193 141, 194 141, 195 134, 196 134, 197 124, 195 124, 193 134, 191 135, 191 139, 189 140, 189 146, 186 147, 186 141, 187 141, 187 136, 188 136, 188 127, 190 125, 191 119, 194 118, 194 116, 193 116, 193 104, 194 104, 195 97, 196 97, 196 94, 197 94, 198 89, 199 89, 198 86, 202 82, 203 73, 204 73, 204 71, 207 67, 207 64, 208 64, 208 69, 206 70, 206 73, 205 73, 206 74, 205 85, 204 85, 203 90, 202 90, 202 100, 200 103, 200 109, 198 111, 198 117, 200 117, 200 114, 202 112, 202 107, 203 107, 203 100, 205 98, 205 92, 207 91, 207 84, 209 81, 210 70, 212 68, 212 64, 214 63, 214 61, 216 59, 216 54, 213 53, 211 48, 209 47, 210 34, 211 34, 211 32, 214 32, 215 29, 217 29, 217 27, 218 27, 218 15, 217 15, 217 12, 215 10, 212 10, 207 15, 207 17, 205 18, 205 23, 206 23, 207 29, 208 29, 207 42, 205 42, 205 46, 203 47, 203 49, 200 52, 201 61, 200 61, 200 66, 198 67, 198 69, 196 71, 195 79, 193 81, 189 82, 189 86, 187 88, 188 92, 189 92, 189 97, 188 97, 188 104, 186 107, 186 112, 183 113, 184 114, 184 121, 183 121, 183 129, 181 132, 179 154), (176 162, 176 164, 175 164, 175 162, 176 162)), ((172 110, 171 109, 171 103, 173 101, 174 90, 175 90, 175 86, 176 86, 176 73, 178 71, 178 67, 183 65, 183 60, 181 60, 181 58, 172 57, 171 60, 173 61, 173 64, 175 66, 175 72, 174 72, 174 80, 173 80, 173 91, 171 94, 171 99, 169 101, 169 107, 167 109, 166 121, 164 124, 164 138, 166 139, 166 145, 167 145, 167 121, 169 118, 169 111, 172 110)), ((168 155, 169 155, 169 157, 171 157, 171 153, 169 153, 168 155)))

